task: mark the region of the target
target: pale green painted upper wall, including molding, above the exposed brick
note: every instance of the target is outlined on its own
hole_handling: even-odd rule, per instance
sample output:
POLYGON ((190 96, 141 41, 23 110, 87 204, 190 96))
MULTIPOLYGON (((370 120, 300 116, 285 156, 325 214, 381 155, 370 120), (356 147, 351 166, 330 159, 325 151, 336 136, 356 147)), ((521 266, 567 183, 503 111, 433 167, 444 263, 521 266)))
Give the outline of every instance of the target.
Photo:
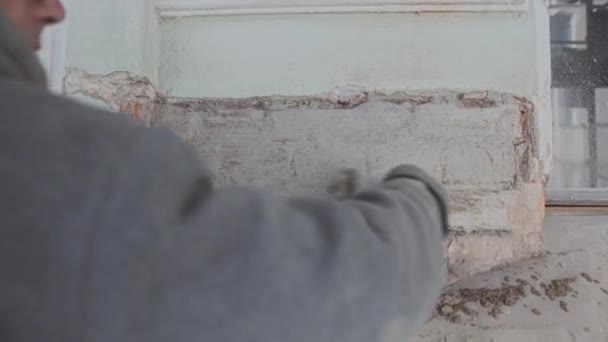
POLYGON ((66 67, 145 75, 184 97, 308 95, 349 83, 530 95, 549 67, 539 65, 543 8, 541 0, 79 0, 68 13, 66 67))

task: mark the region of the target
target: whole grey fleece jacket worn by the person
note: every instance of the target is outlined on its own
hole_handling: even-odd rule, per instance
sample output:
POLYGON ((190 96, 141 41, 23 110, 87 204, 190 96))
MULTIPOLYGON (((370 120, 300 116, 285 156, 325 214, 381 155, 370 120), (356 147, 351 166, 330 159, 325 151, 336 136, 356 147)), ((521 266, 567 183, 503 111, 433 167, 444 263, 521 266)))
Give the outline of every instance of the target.
POLYGON ((0 341, 404 341, 442 287, 412 166, 338 201, 214 187, 163 129, 51 95, 0 18, 0 341))

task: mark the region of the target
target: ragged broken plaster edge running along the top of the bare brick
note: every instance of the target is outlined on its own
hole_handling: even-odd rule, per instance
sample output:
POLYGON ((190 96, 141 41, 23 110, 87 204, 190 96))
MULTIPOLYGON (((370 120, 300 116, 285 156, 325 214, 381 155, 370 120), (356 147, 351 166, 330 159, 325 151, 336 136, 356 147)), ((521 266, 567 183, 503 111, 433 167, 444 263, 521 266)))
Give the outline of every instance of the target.
MULTIPOLYGON (((155 105, 170 103, 188 111, 215 112, 227 115, 240 111, 258 109, 266 114, 296 108, 310 109, 352 109, 371 101, 408 105, 414 112, 419 106, 429 103, 449 103, 455 100, 466 108, 490 108, 520 100, 525 106, 530 102, 519 97, 490 91, 459 93, 450 91, 429 94, 408 94, 405 92, 383 93, 366 90, 363 87, 337 86, 327 94, 316 96, 265 96, 250 98, 170 98, 160 94, 150 81, 128 72, 117 71, 107 75, 89 74, 83 70, 67 70, 64 92, 84 94, 105 102, 114 111, 125 111, 147 125, 154 123, 157 113, 155 105)), ((526 109, 527 110, 527 109, 526 109)), ((529 120, 522 115, 522 129, 527 130, 529 120)), ((525 136, 524 136, 525 137, 525 136)))

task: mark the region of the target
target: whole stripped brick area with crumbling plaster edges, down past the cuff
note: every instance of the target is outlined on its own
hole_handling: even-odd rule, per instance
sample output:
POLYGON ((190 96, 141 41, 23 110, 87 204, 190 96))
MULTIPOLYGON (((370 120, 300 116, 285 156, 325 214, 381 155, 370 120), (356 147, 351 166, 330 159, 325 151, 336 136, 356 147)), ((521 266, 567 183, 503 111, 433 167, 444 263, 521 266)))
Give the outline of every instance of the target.
POLYGON ((417 161, 426 162, 429 171, 435 171, 450 187, 447 264, 452 279, 542 251, 543 184, 548 176, 538 155, 537 113, 528 99, 491 91, 383 93, 357 86, 336 87, 317 96, 166 98, 143 77, 126 72, 92 75, 76 69, 68 71, 64 87, 68 94, 102 100, 112 110, 128 113, 146 126, 169 124, 211 158, 211 164, 217 166, 216 177, 223 183, 261 181, 270 186, 314 188, 318 186, 314 182, 323 179, 327 171, 323 168, 334 162, 335 166, 351 164, 371 174, 379 162, 389 162, 382 151, 395 157, 391 164, 409 162, 398 159, 417 154, 417 161), (434 108, 449 114, 450 110, 459 112, 450 121, 449 114, 439 115, 434 108), (385 115, 381 118, 384 121, 375 121, 378 113, 385 115), (447 115, 446 121, 442 121, 443 115, 447 115), (478 118, 504 125, 479 125, 494 129, 494 133, 472 131, 472 120, 478 118), (348 122, 354 119, 371 121, 348 122), (319 127, 336 131, 319 131, 319 127), (459 140, 440 135, 454 131, 460 132, 459 140), (335 153, 328 151, 336 139, 349 154, 339 160, 324 159, 335 153), (499 139, 498 144, 492 139, 499 139), (408 146, 412 142, 415 146, 408 146), (366 143, 377 150, 360 152, 363 148, 357 144, 366 143), (437 144, 443 145, 433 149, 437 144), (420 152, 418 145, 430 152, 420 152), (463 153, 476 153, 468 157, 472 164, 463 162, 463 153), (466 172, 473 171, 481 175, 482 163, 497 172, 488 178, 494 179, 493 184, 473 184, 478 177, 466 177, 466 172), (454 171, 455 167, 459 169, 454 171), (509 172, 499 174, 502 170, 509 172))

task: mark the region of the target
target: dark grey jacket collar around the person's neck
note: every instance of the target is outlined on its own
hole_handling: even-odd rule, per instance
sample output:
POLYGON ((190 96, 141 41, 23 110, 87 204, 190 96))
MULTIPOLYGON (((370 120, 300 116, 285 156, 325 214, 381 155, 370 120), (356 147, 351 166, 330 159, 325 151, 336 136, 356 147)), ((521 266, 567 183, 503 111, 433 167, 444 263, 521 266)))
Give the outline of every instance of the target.
POLYGON ((0 11, 0 78, 22 80, 46 87, 46 75, 22 33, 0 11))

